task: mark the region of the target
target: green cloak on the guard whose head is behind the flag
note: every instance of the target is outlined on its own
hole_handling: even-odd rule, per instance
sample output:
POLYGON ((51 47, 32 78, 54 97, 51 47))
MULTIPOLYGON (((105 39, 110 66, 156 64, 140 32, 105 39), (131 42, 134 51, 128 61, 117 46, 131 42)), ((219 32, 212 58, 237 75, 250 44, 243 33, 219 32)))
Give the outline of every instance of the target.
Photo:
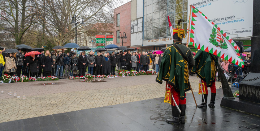
POLYGON ((199 50, 197 51, 194 60, 195 65, 191 72, 193 74, 196 73, 201 80, 206 81, 207 87, 211 87, 212 82, 215 82, 216 78, 218 57, 209 52, 199 50))

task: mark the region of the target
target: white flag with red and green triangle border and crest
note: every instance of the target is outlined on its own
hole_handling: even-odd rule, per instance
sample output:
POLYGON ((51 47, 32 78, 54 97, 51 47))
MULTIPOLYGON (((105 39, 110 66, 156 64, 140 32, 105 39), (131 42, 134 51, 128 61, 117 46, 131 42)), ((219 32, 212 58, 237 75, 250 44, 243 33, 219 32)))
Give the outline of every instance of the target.
POLYGON ((236 43, 198 9, 190 10, 188 44, 244 67, 236 43))

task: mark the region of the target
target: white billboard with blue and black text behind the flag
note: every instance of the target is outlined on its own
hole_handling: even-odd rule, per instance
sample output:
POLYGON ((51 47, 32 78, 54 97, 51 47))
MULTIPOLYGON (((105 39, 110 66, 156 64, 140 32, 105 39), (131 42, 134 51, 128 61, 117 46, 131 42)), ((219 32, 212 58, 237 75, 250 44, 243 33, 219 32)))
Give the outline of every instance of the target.
POLYGON ((252 36, 253 0, 188 0, 188 5, 196 7, 233 39, 252 36))

